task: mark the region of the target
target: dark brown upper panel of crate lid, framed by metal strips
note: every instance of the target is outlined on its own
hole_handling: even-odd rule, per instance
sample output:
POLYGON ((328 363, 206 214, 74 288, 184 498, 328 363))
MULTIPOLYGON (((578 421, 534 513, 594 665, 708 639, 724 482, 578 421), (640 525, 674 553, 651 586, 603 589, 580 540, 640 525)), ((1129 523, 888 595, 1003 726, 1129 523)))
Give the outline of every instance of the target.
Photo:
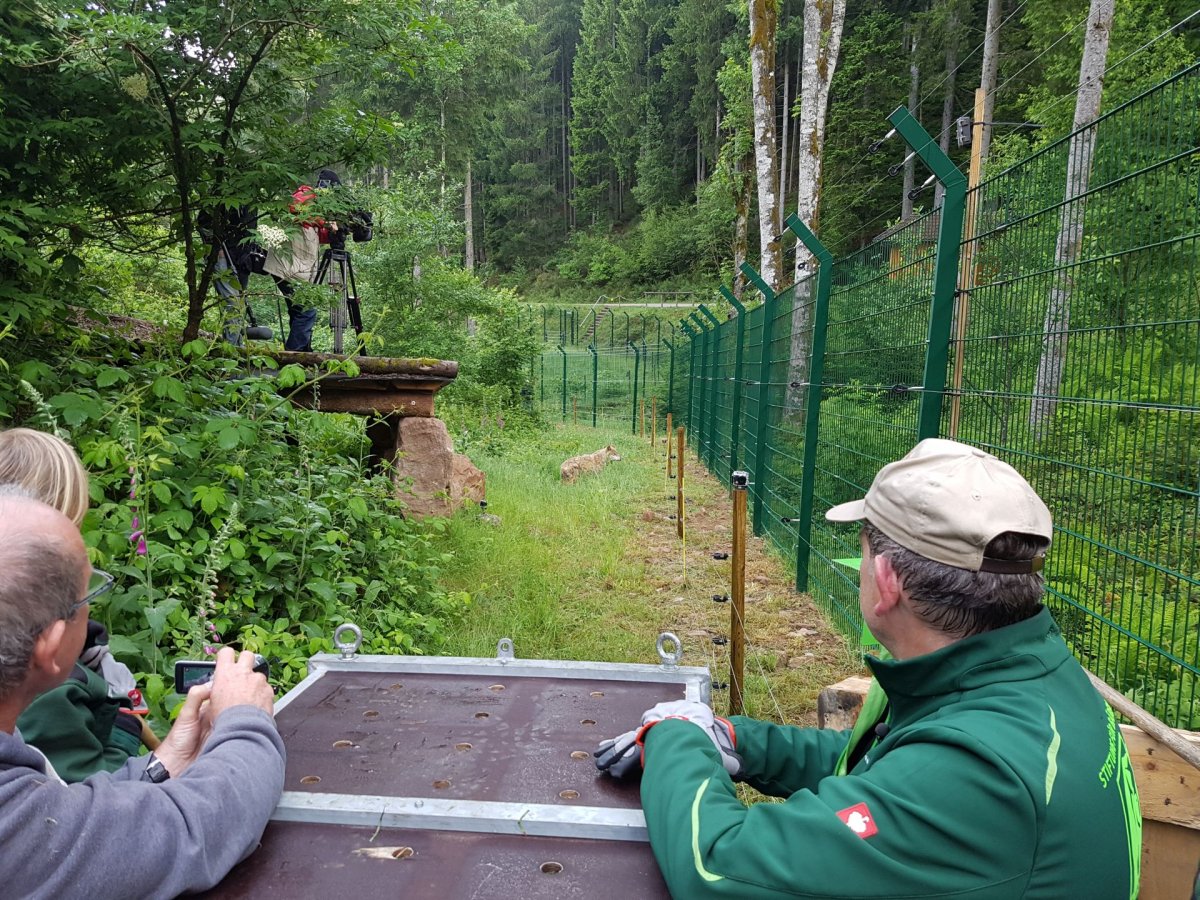
MULTIPOLYGON (((520 662, 512 664, 520 665, 520 662)), ((511 673, 506 673, 511 674, 511 673)), ((637 809, 636 784, 600 776, 572 757, 629 731, 642 713, 685 694, 682 682, 520 676, 503 691, 494 673, 330 670, 276 715, 288 751, 288 785, 300 791, 388 797, 637 809), (373 713, 373 715, 368 715, 373 713), (353 752, 334 755, 334 742, 353 752), (462 750, 470 745, 469 752, 462 750), (299 785, 320 773, 320 784, 299 785), (434 787, 434 781, 448 781, 434 787)))

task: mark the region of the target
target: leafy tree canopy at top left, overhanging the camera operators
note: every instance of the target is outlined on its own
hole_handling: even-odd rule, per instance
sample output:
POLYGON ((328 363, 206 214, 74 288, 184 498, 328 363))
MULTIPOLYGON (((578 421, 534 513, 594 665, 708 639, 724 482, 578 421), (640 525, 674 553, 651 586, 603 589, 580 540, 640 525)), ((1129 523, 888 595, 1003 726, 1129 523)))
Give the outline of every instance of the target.
POLYGON ((282 209, 316 163, 370 163, 390 119, 328 95, 313 102, 314 86, 336 80, 348 54, 365 74, 407 68, 438 47, 415 0, 262 0, 228 13, 186 1, 6 8, 0 300, 10 301, 8 320, 29 320, 31 296, 74 281, 88 240, 143 252, 173 245, 184 262, 185 334, 194 338, 215 262, 194 234, 200 209, 220 239, 228 209, 282 209), (6 209, 19 221, 5 224, 6 209))

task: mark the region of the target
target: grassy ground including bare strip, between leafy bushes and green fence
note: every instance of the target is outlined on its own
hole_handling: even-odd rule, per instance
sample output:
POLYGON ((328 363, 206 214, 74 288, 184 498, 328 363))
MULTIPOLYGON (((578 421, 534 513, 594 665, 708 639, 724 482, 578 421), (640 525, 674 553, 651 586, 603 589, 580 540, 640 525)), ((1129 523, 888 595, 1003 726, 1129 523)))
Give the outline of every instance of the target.
MULTIPOLYGON (((493 656, 497 641, 511 637, 524 659, 658 662, 655 638, 674 631, 685 665, 708 666, 714 680, 728 680, 727 648, 704 635, 727 635, 730 628, 728 607, 709 601, 730 589, 730 564, 712 558, 712 551, 728 550, 730 500, 695 468, 695 457, 689 454, 685 568, 674 526, 662 518, 674 510, 667 497, 674 482, 664 476, 661 446, 652 451, 628 425, 552 425, 481 443, 469 454, 487 473, 487 511, 500 522, 468 510, 449 523, 443 540, 452 558, 443 586, 469 592, 473 602, 451 626, 445 653, 493 656), (619 462, 560 484, 563 460, 608 443, 622 454, 619 462)), ((796 594, 785 563, 762 552, 750 562, 766 580, 748 586, 745 709, 812 724, 821 688, 862 664, 796 594), (793 632, 803 625, 822 635, 798 640, 793 632)), ((726 709, 726 691, 714 694, 718 709, 726 709)))

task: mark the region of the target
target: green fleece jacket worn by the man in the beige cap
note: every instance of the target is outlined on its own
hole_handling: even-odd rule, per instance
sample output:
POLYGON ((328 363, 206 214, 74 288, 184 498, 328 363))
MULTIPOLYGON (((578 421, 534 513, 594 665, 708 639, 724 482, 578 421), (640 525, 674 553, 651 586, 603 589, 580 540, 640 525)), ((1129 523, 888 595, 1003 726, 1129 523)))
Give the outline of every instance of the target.
POLYGON ((677 898, 1136 896, 1124 742, 1049 611, 908 660, 868 658, 887 727, 848 774, 847 732, 736 716, 743 805, 708 737, 646 737, 642 805, 677 898))

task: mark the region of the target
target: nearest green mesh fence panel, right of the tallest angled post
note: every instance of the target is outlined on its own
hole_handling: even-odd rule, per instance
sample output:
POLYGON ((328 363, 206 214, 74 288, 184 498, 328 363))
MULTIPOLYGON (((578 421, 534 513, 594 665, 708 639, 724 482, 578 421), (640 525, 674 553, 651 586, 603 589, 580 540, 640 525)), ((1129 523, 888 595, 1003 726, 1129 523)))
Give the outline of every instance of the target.
POLYGON ((1200 727, 1198 149, 1193 66, 979 186, 943 416, 1054 512, 1075 652, 1178 727, 1200 727))

